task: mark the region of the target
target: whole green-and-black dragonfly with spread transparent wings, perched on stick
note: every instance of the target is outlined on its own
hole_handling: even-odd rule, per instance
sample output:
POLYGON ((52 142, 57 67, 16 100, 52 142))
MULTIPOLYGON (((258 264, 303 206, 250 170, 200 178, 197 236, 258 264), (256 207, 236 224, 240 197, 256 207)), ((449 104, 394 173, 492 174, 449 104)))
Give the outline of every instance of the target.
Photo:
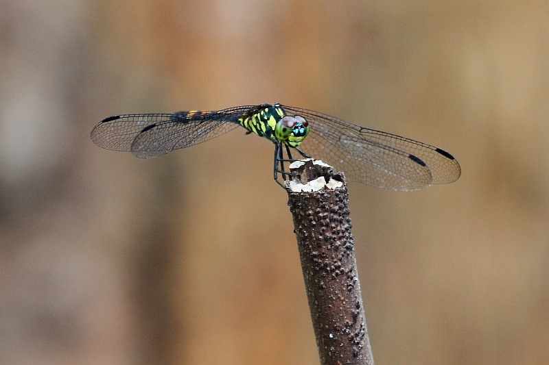
POLYGON ((104 149, 146 159, 205 142, 237 127, 274 143, 273 175, 283 188, 279 174, 282 179, 291 176, 284 170, 284 162, 296 161, 292 151, 334 166, 351 181, 388 190, 420 190, 451 183, 461 175, 454 156, 438 147, 279 103, 109 116, 95 125, 91 140, 104 149))

